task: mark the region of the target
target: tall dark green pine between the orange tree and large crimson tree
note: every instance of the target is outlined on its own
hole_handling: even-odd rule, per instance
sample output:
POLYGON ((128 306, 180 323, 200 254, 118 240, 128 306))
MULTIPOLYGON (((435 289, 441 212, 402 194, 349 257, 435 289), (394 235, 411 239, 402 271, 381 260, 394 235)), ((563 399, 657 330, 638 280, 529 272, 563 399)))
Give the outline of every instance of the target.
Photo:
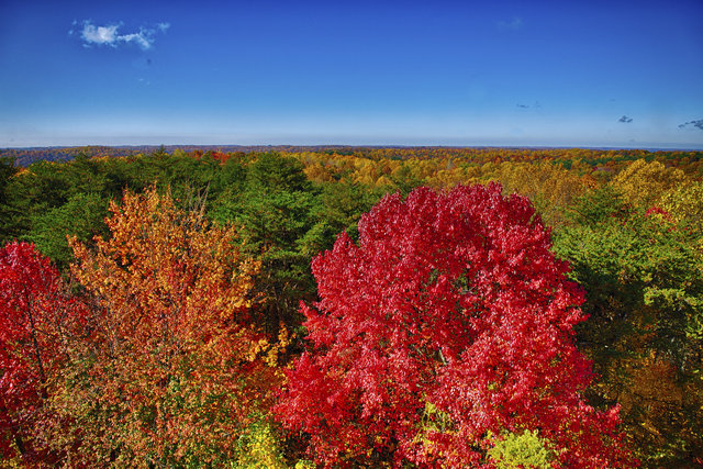
POLYGON ((255 314, 272 337, 280 324, 294 328, 299 302, 314 295, 310 246, 324 235, 315 227, 317 203, 298 161, 263 154, 248 166, 243 190, 223 191, 210 211, 221 224, 241 227, 247 253, 261 259, 254 294, 264 303, 255 314))

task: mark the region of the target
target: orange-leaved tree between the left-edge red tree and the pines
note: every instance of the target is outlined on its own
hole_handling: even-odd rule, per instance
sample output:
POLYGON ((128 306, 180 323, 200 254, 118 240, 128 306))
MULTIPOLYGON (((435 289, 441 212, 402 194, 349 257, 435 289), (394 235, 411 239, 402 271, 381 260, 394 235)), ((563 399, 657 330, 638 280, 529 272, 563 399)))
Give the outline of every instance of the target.
POLYGON ((57 444, 70 465, 236 460, 278 380, 266 362, 275 350, 248 314, 258 264, 232 227, 154 188, 110 211, 112 237, 94 252, 69 241, 93 336, 72 350, 55 399, 74 431, 57 444))

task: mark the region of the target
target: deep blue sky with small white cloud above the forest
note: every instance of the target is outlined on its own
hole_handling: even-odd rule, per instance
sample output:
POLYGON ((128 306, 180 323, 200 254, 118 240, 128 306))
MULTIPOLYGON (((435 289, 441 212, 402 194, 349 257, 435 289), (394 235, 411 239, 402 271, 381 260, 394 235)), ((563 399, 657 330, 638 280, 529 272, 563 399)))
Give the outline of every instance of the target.
POLYGON ((0 147, 703 148, 703 1, 0 2, 0 147))

